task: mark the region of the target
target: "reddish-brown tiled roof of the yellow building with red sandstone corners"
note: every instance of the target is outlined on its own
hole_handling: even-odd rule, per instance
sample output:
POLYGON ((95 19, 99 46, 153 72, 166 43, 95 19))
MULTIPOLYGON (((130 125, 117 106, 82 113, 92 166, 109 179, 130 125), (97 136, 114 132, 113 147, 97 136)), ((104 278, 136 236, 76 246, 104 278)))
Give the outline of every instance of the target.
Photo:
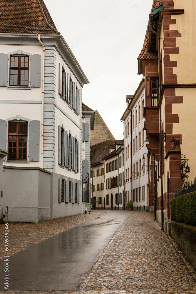
MULTIPOLYGON (((159 6, 163 4, 163 0, 153 0, 153 5, 150 13, 153 13, 155 9, 157 9, 159 6)), ((147 31, 145 34, 144 44, 142 51, 140 52, 140 55, 138 56, 138 59, 158 59, 158 53, 157 52, 147 52, 147 41, 148 41, 148 26, 147 31)))

